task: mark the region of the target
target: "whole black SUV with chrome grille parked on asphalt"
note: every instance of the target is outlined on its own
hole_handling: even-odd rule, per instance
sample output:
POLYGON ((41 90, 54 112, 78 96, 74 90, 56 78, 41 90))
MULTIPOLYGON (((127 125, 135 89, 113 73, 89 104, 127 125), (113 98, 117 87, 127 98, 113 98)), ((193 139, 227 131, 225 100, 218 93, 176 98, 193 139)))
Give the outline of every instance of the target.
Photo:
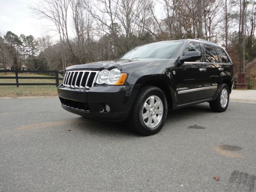
POLYGON ((105 121, 128 118, 142 135, 160 131, 168 110, 209 102, 228 107, 233 64, 217 44, 200 39, 138 46, 118 60, 66 69, 58 96, 65 110, 105 121))

